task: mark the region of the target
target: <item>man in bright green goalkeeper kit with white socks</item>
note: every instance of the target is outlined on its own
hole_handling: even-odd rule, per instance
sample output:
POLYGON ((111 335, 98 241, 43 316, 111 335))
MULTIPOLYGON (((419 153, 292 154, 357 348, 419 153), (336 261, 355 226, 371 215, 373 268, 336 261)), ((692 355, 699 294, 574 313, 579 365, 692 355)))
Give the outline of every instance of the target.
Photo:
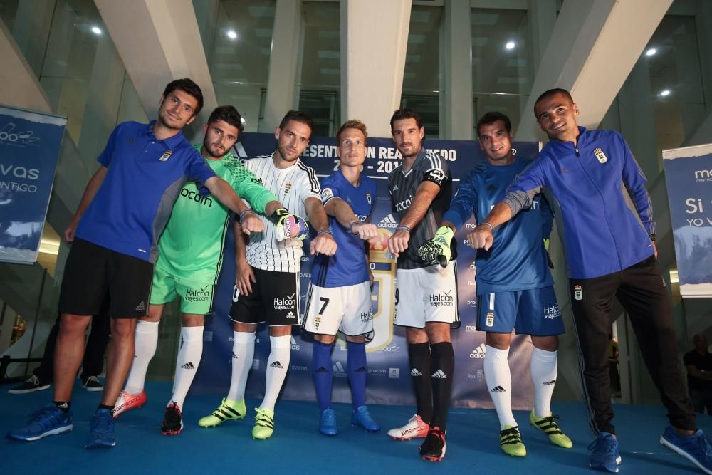
MULTIPOLYGON (((255 212, 271 216, 278 233, 285 238, 303 239, 308 226, 290 214, 258 179, 229 150, 243 130, 242 118, 231 105, 216 108, 204 125, 205 137, 195 147, 213 171, 231 184, 255 212)), ((251 210, 243 212, 242 221, 251 210)), ((158 343, 158 323, 166 303, 181 298, 182 345, 161 432, 179 434, 183 429, 181 411, 203 352, 204 315, 212 310, 214 286, 222 264, 222 251, 230 221, 229 209, 210 195, 203 196, 193 183, 180 192, 170 220, 159 240, 159 257, 151 290, 150 306, 136 325, 136 350, 126 386, 119 395, 114 417, 145 404, 146 371, 158 343)), ((279 238, 280 236, 278 236, 279 238)))

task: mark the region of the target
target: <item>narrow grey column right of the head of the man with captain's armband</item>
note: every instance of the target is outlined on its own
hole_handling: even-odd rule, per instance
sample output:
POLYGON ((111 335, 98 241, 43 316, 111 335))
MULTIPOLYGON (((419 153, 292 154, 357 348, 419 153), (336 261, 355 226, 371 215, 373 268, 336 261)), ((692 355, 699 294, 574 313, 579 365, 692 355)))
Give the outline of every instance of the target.
POLYGON ((440 115, 444 139, 471 140, 472 130, 472 26, 468 0, 445 2, 444 80, 440 115))

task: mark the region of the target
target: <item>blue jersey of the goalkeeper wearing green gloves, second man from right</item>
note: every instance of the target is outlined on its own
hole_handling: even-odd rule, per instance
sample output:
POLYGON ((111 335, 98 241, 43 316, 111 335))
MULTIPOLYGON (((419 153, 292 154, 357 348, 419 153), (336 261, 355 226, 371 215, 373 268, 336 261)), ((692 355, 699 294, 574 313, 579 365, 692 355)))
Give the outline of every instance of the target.
MULTIPOLYGON (((459 229, 473 213, 477 221, 483 220, 530 163, 531 160, 521 159, 504 166, 479 163, 461 179, 443 221, 450 221, 459 229)), ((543 243, 549 237, 552 223, 549 204, 538 194, 529 209, 498 226, 491 249, 477 251, 478 295, 553 285, 543 243)))

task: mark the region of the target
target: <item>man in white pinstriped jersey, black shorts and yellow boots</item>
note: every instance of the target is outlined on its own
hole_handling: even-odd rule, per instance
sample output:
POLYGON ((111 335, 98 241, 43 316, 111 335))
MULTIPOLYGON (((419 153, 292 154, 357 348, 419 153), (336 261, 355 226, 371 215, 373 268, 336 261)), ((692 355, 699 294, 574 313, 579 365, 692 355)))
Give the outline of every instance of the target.
MULTIPOLYGON (((247 160, 245 167, 261 180, 289 213, 308 216, 317 231, 311 240, 311 254, 333 256, 336 242, 329 231, 328 216, 321 200, 319 180, 300 156, 309 145, 313 121, 305 113, 290 110, 274 132, 277 150, 271 155, 247 160)), ((285 210, 285 212, 286 212, 285 210)), ((227 397, 201 427, 211 427, 246 414, 245 386, 252 367, 258 323, 267 323, 271 353, 267 360, 265 397, 256 408, 252 437, 268 439, 274 427, 274 407, 290 361, 292 327, 300 325, 299 263, 300 239, 283 239, 288 234, 277 224, 260 216, 264 231, 244 236, 236 228, 235 292, 230 318, 233 320, 232 378, 227 397), (249 242, 246 242, 248 238, 249 242)), ((298 223, 290 225, 299 226, 298 223)), ((293 234, 292 234, 293 235, 293 234)))

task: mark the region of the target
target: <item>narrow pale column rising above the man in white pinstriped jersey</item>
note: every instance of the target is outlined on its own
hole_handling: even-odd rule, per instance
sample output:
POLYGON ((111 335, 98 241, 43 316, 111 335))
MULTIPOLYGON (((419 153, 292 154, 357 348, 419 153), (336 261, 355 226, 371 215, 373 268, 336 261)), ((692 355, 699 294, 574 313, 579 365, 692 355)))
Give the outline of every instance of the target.
POLYGON ((285 113, 295 108, 301 18, 301 0, 277 0, 272 52, 269 57, 267 100, 260 132, 273 131, 285 113))

